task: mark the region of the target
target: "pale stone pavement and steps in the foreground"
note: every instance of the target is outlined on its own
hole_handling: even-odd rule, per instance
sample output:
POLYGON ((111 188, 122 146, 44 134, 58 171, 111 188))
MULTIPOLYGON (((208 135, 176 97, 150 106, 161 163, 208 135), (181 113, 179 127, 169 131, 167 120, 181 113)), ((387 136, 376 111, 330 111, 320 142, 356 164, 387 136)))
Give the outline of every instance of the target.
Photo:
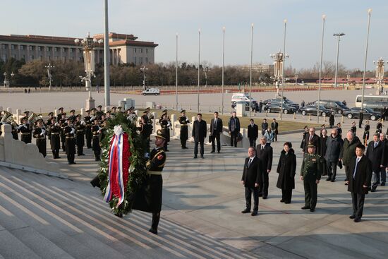
MULTIPOLYGON (((322 178, 315 212, 301 210, 303 184, 301 134, 279 135, 272 143, 269 197, 260 198, 259 215, 241 214, 241 185, 247 150, 222 147, 205 159, 193 159, 193 143, 181 150, 172 140, 163 171, 163 207, 159 236, 150 234, 150 215, 134 211, 119 219, 109 212, 97 188, 90 186, 98 164, 91 150, 56 159, 73 181, 0 168, 0 255, 4 258, 387 258, 388 187, 365 198, 363 220, 354 223, 344 169, 337 181, 322 178), (282 144, 291 141, 297 155, 292 203, 280 203, 275 187, 282 144)), ((49 154, 49 157, 50 154, 49 154)), ((47 160, 53 161, 48 158, 47 160)), ((0 256, 0 258, 2 258, 0 256)))

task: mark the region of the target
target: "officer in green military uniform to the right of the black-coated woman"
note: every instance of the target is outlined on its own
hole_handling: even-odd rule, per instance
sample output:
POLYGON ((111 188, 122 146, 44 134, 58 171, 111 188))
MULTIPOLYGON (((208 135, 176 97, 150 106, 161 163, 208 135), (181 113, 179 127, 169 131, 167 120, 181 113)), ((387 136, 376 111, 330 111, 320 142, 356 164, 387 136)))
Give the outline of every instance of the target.
POLYGON ((305 205, 302 210, 315 211, 317 205, 317 184, 320 183, 323 159, 315 154, 315 145, 308 143, 308 153, 303 156, 301 180, 305 188, 305 205))

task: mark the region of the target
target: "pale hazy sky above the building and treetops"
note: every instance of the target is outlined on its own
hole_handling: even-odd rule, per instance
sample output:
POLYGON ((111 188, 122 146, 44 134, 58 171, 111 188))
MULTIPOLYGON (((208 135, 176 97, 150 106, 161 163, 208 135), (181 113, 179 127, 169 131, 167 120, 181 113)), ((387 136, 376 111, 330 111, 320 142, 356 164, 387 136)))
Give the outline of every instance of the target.
MULTIPOLYGON (((103 0, 1 0, 0 35, 84 37, 104 30, 103 0)), ((269 54, 283 47, 287 19, 286 66, 308 68, 320 59, 322 14, 325 25, 324 60, 335 61, 337 40, 344 32, 339 61, 347 68, 363 68, 372 8, 368 69, 373 60, 388 60, 387 0, 112 0, 109 31, 138 36, 159 44, 155 62, 175 60, 178 32, 179 61, 222 64, 222 27, 226 28, 225 63, 250 63, 250 25, 254 24, 253 61, 272 62, 269 54)))

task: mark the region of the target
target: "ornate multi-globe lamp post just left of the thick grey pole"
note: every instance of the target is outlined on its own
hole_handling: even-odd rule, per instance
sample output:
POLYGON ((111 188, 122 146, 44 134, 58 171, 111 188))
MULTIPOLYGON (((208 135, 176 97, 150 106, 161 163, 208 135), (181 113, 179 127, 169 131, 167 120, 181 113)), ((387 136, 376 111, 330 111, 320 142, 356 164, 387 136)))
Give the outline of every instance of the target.
POLYGON ((86 100, 86 109, 95 108, 95 100, 92 98, 92 76, 95 76, 95 47, 102 44, 103 40, 97 40, 90 37, 90 33, 87 33, 87 37, 83 40, 75 39, 76 45, 83 47, 83 61, 85 64, 86 76, 80 76, 81 81, 85 81, 86 90, 89 91, 89 98, 86 100))

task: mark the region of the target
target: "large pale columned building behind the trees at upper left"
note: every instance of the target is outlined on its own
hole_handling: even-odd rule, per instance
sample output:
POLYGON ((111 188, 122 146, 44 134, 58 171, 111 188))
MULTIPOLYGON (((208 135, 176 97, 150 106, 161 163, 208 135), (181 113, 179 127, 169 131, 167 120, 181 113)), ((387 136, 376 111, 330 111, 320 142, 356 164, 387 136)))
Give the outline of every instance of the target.
MULTIPOLYGON (((103 39, 103 34, 93 36, 103 39)), ((138 37, 109 33, 110 64, 154 64, 154 42, 138 41, 138 37)), ((0 60, 24 59, 45 61, 83 61, 83 48, 75 45, 73 37, 41 35, 0 35, 0 60)), ((104 63, 104 48, 95 48, 96 64, 104 63)))

